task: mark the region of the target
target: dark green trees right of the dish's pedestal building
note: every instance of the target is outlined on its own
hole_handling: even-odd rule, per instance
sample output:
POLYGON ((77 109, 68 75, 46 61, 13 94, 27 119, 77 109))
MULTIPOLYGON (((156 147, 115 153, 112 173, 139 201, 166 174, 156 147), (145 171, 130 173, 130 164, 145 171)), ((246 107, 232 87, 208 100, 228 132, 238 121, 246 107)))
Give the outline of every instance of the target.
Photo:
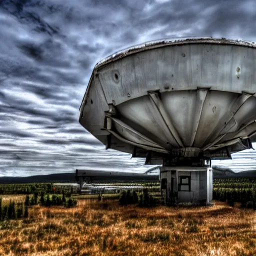
POLYGON ((213 199, 227 201, 230 205, 240 202, 242 207, 256 209, 256 179, 215 179, 212 195, 213 199))

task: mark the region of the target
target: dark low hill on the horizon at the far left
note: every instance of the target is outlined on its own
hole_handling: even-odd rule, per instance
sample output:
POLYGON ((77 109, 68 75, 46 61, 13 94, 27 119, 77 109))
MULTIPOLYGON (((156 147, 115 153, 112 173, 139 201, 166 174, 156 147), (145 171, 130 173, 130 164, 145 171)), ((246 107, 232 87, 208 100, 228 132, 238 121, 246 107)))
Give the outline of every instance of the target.
POLYGON ((76 182, 75 172, 35 175, 28 177, 0 177, 0 183, 30 183, 30 182, 76 182))

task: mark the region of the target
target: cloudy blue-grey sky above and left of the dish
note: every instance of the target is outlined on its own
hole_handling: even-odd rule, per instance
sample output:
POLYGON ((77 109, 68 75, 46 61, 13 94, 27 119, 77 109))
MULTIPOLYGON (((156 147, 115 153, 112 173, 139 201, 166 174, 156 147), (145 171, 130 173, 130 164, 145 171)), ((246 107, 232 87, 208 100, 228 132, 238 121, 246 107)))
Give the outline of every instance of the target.
POLYGON ((95 63, 160 38, 256 41, 255 9, 254 0, 1 0, 0 176, 145 170, 78 123, 95 63))

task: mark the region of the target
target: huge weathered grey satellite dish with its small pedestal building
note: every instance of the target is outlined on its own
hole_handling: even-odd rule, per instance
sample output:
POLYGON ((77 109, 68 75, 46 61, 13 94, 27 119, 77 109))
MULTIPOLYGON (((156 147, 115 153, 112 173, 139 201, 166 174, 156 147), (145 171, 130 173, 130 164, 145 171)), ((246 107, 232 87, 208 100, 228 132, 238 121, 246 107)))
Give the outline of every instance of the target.
POLYGON ((256 139, 255 70, 251 42, 147 42, 95 65, 79 122, 106 148, 162 164, 166 201, 208 203, 210 160, 256 139))

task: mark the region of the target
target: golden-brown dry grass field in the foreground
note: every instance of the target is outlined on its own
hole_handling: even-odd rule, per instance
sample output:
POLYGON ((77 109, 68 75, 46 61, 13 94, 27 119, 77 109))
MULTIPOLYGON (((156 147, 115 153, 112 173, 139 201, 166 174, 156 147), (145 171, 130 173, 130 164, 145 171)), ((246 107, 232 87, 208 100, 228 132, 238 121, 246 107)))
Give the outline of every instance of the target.
POLYGON ((211 207, 139 208, 80 199, 74 208, 32 206, 0 222, 0 255, 256 255, 256 213, 211 207))

